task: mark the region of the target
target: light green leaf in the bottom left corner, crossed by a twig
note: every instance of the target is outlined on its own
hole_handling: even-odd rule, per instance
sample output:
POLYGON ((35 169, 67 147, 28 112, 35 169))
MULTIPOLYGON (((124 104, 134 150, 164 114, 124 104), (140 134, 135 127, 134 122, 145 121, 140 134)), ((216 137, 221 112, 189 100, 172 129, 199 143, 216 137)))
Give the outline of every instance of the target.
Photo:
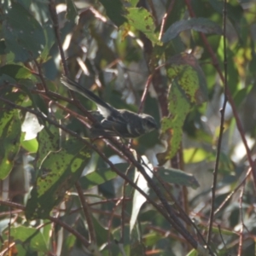
POLYGON ((15 241, 21 241, 22 243, 26 242, 26 247, 29 247, 34 251, 47 253, 49 250, 43 234, 38 229, 27 228, 25 226, 11 228, 10 236, 15 241))

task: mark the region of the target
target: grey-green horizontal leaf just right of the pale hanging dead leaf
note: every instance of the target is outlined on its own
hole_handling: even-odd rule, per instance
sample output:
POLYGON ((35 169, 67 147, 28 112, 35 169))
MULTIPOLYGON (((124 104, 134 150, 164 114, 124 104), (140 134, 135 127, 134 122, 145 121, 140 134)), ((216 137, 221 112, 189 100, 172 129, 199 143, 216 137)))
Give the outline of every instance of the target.
POLYGON ((181 186, 197 189, 200 185, 195 177, 188 173, 177 169, 158 168, 157 175, 166 183, 173 183, 181 186))

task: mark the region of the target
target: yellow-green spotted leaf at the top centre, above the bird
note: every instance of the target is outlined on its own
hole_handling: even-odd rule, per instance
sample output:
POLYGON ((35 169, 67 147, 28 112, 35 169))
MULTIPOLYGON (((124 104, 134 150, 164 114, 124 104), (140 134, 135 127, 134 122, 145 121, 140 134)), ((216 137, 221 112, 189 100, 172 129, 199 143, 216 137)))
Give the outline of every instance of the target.
POLYGON ((153 16, 147 9, 143 8, 128 8, 128 14, 125 15, 129 24, 134 26, 138 31, 143 32, 153 44, 161 44, 154 30, 153 16))

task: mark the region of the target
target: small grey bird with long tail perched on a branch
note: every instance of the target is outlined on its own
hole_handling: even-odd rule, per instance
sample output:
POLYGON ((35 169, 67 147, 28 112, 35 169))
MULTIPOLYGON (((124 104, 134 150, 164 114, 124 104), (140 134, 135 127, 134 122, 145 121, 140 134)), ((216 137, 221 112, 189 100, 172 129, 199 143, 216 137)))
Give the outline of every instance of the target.
POLYGON ((149 114, 113 108, 92 91, 65 76, 62 76, 61 83, 96 103, 102 121, 91 127, 91 137, 140 137, 158 127, 154 117, 149 114))

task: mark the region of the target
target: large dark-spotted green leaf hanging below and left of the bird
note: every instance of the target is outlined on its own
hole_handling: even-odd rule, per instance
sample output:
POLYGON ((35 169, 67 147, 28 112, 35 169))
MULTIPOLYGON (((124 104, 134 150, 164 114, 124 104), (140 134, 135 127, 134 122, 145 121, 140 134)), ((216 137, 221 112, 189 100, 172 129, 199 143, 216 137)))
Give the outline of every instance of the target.
POLYGON ((78 139, 67 141, 60 151, 50 152, 40 168, 42 175, 37 178, 26 203, 26 218, 48 218, 52 208, 78 181, 89 160, 90 149, 78 139))

